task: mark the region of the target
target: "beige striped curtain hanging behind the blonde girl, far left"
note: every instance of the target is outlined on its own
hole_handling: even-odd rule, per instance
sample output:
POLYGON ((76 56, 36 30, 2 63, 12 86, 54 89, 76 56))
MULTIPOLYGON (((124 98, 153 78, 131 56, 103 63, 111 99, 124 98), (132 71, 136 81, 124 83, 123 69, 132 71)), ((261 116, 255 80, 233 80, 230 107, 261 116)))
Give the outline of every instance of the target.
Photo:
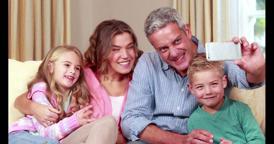
POLYGON ((8 1, 9 59, 39 61, 52 47, 70 43, 70 1, 8 1))

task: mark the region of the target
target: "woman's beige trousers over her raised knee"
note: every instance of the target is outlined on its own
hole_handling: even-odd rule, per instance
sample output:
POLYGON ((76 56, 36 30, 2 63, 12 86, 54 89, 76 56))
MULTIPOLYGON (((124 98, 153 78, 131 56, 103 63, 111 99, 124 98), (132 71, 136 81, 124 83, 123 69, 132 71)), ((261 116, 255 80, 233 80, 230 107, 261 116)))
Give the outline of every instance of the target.
POLYGON ((103 116, 73 131, 62 141, 62 144, 111 144, 116 142, 117 135, 118 125, 116 119, 113 116, 103 116))

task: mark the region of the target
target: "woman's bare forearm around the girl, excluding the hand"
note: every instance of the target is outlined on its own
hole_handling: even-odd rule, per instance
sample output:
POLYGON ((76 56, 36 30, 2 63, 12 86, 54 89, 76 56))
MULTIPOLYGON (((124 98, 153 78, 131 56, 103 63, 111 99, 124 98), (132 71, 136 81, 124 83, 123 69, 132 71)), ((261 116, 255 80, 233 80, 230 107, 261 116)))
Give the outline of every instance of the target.
POLYGON ((27 92, 19 95, 14 101, 14 107, 26 115, 32 114, 32 106, 36 103, 27 98, 27 92))

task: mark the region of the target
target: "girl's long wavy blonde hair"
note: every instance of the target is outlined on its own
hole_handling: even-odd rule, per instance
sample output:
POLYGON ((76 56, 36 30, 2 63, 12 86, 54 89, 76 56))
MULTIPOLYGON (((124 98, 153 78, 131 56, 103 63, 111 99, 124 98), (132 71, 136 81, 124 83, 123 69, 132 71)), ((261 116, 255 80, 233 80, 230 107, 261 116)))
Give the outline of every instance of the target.
MULTIPOLYGON (((53 68, 54 70, 54 68, 53 68)), ((31 92, 32 87, 38 83, 38 82, 45 82, 47 84, 46 87, 46 97, 48 101, 52 104, 52 94, 54 94, 54 97, 57 100, 57 109, 61 111, 61 114, 59 115, 59 118, 56 122, 64 119, 65 117, 73 115, 76 111, 80 109, 80 105, 85 106, 86 103, 89 103, 91 95, 89 94, 89 90, 85 81, 85 75, 84 75, 84 60, 82 53, 74 46, 64 45, 64 46, 58 46, 53 49, 51 49, 47 55, 44 57, 42 63, 39 65, 38 72, 36 73, 33 80, 28 82, 28 93, 31 92), (80 74, 79 78, 76 81, 76 83, 70 88, 72 91, 72 94, 70 96, 70 113, 65 113, 64 109, 62 108, 62 86, 56 82, 56 80, 53 77, 53 74, 50 73, 50 69, 48 67, 48 62, 51 62, 54 65, 54 62, 58 60, 58 58, 64 54, 65 52, 75 52, 79 59, 80 59, 80 74), (76 108, 74 111, 72 110, 73 107, 76 108)), ((53 104, 52 104, 53 105, 53 104)))

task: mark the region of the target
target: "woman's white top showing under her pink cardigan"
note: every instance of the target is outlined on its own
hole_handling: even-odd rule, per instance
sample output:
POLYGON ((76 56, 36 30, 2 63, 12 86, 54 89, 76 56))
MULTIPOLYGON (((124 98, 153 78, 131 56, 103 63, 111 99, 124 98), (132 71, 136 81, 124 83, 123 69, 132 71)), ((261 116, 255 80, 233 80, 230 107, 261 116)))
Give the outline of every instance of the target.
POLYGON ((122 103, 124 101, 125 96, 119 96, 119 97, 112 97, 109 95, 111 104, 112 104, 112 116, 116 119, 118 122, 120 111, 122 107, 122 103))

